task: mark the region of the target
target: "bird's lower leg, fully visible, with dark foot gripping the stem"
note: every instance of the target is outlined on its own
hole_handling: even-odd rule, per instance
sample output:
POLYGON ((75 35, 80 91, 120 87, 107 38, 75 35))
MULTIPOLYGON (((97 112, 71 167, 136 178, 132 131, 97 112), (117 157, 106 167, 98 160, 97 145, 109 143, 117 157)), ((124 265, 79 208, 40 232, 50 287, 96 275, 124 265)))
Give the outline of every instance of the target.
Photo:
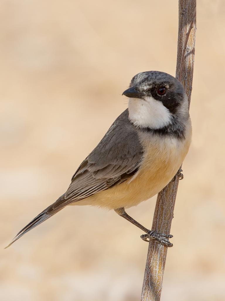
POLYGON ((141 238, 144 241, 149 242, 149 239, 153 239, 158 241, 160 244, 164 244, 167 247, 173 247, 173 244, 170 243, 169 238, 172 238, 173 235, 169 234, 163 234, 163 233, 157 233, 154 230, 149 230, 147 228, 145 228, 143 225, 141 225, 139 222, 137 222, 135 219, 133 219, 131 216, 129 216, 124 207, 122 208, 118 208, 118 209, 114 209, 115 212, 117 214, 119 214, 119 216, 122 216, 124 219, 128 220, 129 222, 131 222, 133 225, 137 226, 138 228, 140 228, 141 230, 143 230, 146 234, 141 235, 141 238))

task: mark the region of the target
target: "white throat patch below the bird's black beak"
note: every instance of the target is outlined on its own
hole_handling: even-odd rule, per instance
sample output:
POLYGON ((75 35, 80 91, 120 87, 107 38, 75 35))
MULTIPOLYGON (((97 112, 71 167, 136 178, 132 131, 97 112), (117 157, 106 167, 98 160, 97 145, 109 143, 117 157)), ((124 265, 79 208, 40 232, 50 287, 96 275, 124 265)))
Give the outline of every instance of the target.
POLYGON ((131 122, 142 128, 160 129, 171 120, 170 111, 151 96, 145 99, 129 98, 128 110, 131 122))

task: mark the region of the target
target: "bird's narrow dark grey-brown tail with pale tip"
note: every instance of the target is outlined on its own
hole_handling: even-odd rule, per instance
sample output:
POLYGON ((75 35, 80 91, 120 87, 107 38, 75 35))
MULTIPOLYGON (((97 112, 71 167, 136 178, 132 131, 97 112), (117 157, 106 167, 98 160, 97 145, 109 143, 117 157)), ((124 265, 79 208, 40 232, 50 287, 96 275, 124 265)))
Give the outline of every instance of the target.
MULTIPOLYGON (((56 202, 57 203, 60 202, 60 200, 63 199, 63 198, 64 198, 64 194, 61 197, 59 197, 56 202)), ((31 229, 35 228, 37 225, 40 225, 46 219, 49 219, 49 217, 51 217, 52 215, 54 215, 55 213, 57 213, 58 211, 63 209, 64 206, 61 206, 60 208, 56 209, 55 208, 55 203, 53 203, 52 205, 50 205, 46 209, 44 209, 44 211, 42 211, 40 214, 38 214, 38 216, 36 216, 34 219, 32 219, 32 221, 29 222, 29 224, 27 224, 24 228, 22 228, 22 230, 20 230, 19 233, 16 234, 16 236, 13 238, 12 242, 7 247, 5 247, 5 249, 10 247, 11 244, 13 244, 17 239, 19 239, 25 233, 27 233, 31 229)))

